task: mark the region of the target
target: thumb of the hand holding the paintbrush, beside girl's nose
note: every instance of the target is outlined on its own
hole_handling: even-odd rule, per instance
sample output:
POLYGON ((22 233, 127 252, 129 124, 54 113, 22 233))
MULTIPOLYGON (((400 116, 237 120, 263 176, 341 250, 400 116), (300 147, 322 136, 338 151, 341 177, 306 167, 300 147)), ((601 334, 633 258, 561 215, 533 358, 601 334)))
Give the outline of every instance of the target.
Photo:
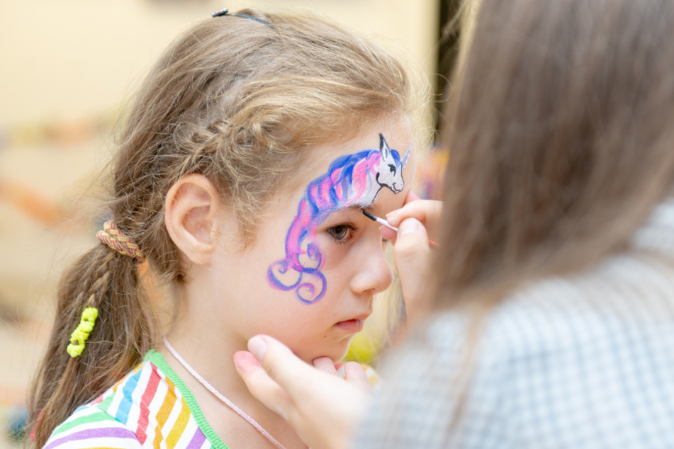
POLYGON ((420 314, 426 291, 426 270, 429 266, 426 228, 416 218, 405 218, 398 227, 398 239, 393 246, 393 259, 398 268, 408 318, 420 314))

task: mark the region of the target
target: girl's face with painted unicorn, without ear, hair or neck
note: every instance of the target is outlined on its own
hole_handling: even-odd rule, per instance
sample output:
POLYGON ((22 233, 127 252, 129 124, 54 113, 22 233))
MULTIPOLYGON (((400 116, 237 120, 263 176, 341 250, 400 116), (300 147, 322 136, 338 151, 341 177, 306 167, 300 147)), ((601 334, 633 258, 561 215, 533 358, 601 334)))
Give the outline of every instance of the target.
POLYGON ((380 225, 362 210, 384 217, 403 205, 416 168, 411 145, 409 125, 397 117, 320 145, 298 173, 301 187, 279 195, 253 244, 219 251, 213 268, 231 305, 226 325, 242 341, 264 333, 305 360, 344 357, 373 295, 393 279, 380 225))

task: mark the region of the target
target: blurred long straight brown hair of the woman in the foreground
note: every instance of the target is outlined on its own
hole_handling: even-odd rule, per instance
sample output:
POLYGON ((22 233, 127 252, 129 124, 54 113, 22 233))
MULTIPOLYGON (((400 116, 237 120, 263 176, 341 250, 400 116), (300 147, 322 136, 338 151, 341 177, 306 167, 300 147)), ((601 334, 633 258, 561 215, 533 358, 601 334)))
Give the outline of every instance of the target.
POLYGON ((448 105, 439 306, 624 249, 674 186, 674 2, 483 0, 448 105))

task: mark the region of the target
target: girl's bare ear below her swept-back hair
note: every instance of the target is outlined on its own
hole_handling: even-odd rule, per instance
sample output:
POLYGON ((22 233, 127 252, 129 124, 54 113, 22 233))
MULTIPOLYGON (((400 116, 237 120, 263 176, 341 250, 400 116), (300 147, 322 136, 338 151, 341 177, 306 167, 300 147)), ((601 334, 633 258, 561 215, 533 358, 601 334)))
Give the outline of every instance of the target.
POLYGON ((220 199, 206 176, 189 174, 169 189, 164 220, 169 236, 192 263, 210 262, 216 245, 220 199))

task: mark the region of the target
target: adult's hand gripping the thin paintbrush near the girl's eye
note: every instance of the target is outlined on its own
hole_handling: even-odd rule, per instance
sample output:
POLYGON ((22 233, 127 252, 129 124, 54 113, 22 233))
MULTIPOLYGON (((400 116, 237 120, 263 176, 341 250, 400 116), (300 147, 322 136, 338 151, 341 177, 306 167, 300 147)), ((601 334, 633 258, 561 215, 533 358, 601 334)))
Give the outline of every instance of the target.
POLYGON ((388 222, 398 227, 398 234, 381 228, 383 237, 393 241, 393 260, 400 276, 408 324, 425 314, 431 260, 429 235, 437 239, 441 210, 442 202, 420 200, 410 191, 403 207, 386 215, 388 222))

